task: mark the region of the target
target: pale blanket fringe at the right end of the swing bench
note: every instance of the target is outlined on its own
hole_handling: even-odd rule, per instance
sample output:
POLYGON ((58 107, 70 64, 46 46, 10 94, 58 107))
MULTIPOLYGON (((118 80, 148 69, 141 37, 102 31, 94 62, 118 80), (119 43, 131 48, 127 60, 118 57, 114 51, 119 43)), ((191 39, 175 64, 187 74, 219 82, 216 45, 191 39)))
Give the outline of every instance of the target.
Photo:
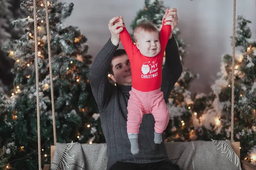
POLYGON ((234 152, 234 150, 232 149, 232 147, 230 147, 229 144, 227 144, 227 142, 225 141, 217 141, 217 140, 213 140, 212 142, 214 142, 215 144, 218 143, 217 145, 217 149, 221 149, 221 153, 227 153, 227 159, 230 160, 230 162, 233 162, 233 155, 235 156, 235 164, 236 167, 241 170, 241 164, 240 164, 240 160, 239 157, 236 155, 236 153, 234 152))

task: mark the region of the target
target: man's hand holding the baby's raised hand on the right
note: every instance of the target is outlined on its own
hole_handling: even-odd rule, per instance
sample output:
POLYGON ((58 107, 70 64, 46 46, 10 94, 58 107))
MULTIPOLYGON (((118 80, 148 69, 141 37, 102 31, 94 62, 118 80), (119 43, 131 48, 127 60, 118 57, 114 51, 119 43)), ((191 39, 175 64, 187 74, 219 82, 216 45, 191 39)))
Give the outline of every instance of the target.
POLYGON ((177 9, 176 8, 171 8, 171 9, 166 9, 166 13, 163 16, 163 21, 164 25, 170 25, 172 30, 170 34, 170 39, 172 38, 172 32, 174 31, 175 27, 177 26, 178 23, 178 16, 177 16, 177 9))

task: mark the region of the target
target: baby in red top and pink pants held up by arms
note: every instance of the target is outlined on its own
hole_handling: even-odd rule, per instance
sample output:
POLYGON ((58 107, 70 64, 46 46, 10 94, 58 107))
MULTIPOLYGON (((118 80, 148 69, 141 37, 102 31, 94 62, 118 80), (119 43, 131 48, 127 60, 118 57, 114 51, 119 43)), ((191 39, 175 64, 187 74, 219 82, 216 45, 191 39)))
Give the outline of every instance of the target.
MULTIPOLYGON (((169 17, 169 9, 166 17, 169 17)), ((164 20, 164 18, 163 18, 164 20)), ((123 18, 120 22, 124 23, 123 18)), ((162 133, 169 122, 169 113, 160 91, 162 82, 163 55, 171 33, 171 26, 164 25, 160 34, 150 23, 142 23, 134 29, 134 40, 124 27, 120 39, 131 64, 132 88, 128 100, 127 133, 131 153, 139 152, 138 133, 143 115, 152 113, 155 119, 154 142, 160 144, 162 133)))

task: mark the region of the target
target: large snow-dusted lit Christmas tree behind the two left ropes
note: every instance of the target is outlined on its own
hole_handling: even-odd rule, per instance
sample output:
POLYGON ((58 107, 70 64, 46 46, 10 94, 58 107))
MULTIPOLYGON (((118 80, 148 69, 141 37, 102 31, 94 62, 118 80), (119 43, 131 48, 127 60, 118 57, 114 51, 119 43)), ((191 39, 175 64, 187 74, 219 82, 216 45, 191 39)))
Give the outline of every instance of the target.
MULTIPOLYGON (((72 13, 73 3, 37 1, 42 165, 50 163, 50 145, 54 144, 45 5, 49 9, 57 142, 105 142, 87 79, 91 63, 87 38, 79 28, 62 23, 72 13)), ((2 48, 15 60, 15 79, 8 95, 0 95, 0 169, 35 170, 38 139, 33 1, 23 1, 20 8, 27 17, 12 25, 25 34, 2 48)))

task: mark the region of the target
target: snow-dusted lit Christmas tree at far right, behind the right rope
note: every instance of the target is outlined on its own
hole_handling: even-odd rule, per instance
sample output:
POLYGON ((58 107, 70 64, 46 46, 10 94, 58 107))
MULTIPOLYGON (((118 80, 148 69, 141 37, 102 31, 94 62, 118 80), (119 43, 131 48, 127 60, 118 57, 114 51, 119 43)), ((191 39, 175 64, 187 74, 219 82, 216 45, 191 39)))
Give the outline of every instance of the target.
MULTIPOLYGON (((236 28, 234 140, 240 142, 241 160, 256 165, 256 41, 251 40, 249 20, 238 16, 236 28)), ((212 93, 193 105, 195 139, 230 140, 232 56, 222 56, 221 71, 212 93), (197 110, 196 110, 197 109, 197 110)))

